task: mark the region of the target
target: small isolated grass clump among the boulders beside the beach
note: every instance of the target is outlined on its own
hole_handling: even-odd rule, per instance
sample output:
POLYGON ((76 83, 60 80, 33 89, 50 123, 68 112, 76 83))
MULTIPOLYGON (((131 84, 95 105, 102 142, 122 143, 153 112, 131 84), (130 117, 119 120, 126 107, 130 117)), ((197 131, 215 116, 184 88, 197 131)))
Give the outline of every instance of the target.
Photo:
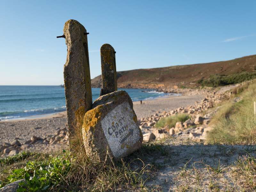
POLYGON ((171 128, 171 127, 174 127, 177 122, 184 123, 189 118, 190 118, 190 116, 187 115, 187 114, 184 114, 184 113, 172 115, 172 116, 169 116, 169 117, 164 117, 164 118, 161 118, 156 123, 156 127, 157 128, 163 128, 163 127, 168 125, 169 128, 171 128))

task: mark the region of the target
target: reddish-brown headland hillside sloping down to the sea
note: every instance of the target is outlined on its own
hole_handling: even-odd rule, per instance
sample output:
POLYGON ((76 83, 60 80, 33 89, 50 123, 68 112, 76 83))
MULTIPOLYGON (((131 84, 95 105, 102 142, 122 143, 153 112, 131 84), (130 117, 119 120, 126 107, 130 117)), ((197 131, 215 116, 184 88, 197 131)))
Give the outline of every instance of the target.
MULTIPOLYGON (((196 87, 198 80, 241 72, 256 72, 256 55, 212 63, 120 71, 117 72, 117 84, 120 88, 196 87)), ((91 82, 92 87, 101 87, 101 75, 91 82)))

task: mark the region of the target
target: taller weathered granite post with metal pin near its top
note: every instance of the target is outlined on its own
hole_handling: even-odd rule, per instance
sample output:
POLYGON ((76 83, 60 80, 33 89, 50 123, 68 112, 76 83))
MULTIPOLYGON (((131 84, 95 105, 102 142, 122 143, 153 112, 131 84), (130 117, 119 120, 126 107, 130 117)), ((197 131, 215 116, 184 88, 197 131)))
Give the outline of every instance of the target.
POLYGON ((64 65, 64 84, 67 106, 68 132, 74 135, 76 126, 92 107, 92 89, 89 66, 87 31, 76 20, 64 25, 67 44, 67 61, 64 65))

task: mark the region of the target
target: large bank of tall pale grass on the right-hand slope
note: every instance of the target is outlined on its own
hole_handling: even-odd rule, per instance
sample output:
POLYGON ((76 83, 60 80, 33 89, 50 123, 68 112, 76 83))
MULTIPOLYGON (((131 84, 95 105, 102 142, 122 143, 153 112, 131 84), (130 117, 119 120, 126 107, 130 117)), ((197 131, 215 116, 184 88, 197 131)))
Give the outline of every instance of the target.
POLYGON ((253 101, 256 101, 256 83, 245 84, 233 90, 236 93, 225 101, 211 121, 213 130, 208 140, 223 139, 229 143, 252 140, 256 136, 253 101), (239 98, 240 101, 234 100, 239 98))

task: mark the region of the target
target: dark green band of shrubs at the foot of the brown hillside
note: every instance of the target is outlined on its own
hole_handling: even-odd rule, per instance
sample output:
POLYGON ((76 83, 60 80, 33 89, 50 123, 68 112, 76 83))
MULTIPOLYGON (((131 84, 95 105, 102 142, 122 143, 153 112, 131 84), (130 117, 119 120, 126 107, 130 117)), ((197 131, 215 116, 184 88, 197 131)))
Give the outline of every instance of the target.
POLYGON ((256 72, 242 72, 232 75, 211 75, 209 79, 200 79, 198 84, 208 87, 218 87, 229 84, 236 84, 256 78, 256 72))

